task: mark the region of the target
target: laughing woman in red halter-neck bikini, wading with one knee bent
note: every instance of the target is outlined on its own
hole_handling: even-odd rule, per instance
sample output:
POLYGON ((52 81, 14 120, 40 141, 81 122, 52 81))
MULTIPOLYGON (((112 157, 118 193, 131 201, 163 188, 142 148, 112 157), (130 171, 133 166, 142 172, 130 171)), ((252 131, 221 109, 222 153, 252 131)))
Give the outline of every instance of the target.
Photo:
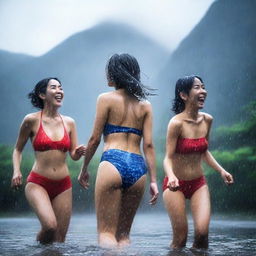
POLYGON ((40 112, 25 116, 13 151, 12 187, 22 185, 20 170, 22 151, 30 138, 35 162, 27 178, 26 198, 37 214, 41 243, 64 242, 72 208, 72 184, 66 164, 67 151, 73 160, 85 154, 83 145, 77 146, 75 122, 58 113, 64 92, 57 78, 38 82, 28 97, 40 112))

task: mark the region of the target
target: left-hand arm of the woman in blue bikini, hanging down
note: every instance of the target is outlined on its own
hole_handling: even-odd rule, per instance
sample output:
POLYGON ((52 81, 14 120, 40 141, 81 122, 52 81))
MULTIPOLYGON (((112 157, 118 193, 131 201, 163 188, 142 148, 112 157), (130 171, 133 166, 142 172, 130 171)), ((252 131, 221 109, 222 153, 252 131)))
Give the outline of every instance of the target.
POLYGON ((100 144, 100 139, 104 129, 104 125, 108 118, 108 103, 108 98, 105 94, 101 94, 97 99, 96 117, 94 121, 93 132, 88 141, 86 154, 84 157, 84 163, 78 176, 78 182, 84 188, 88 188, 89 186, 89 173, 87 171, 87 168, 93 155, 95 154, 95 151, 97 150, 100 144))

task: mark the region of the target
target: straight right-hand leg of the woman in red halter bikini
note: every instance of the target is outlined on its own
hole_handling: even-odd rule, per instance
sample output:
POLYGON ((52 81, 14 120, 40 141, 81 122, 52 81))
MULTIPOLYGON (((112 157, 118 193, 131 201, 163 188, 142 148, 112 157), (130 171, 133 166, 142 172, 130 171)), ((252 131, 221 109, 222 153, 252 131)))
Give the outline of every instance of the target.
POLYGON ((52 200, 57 220, 56 242, 64 242, 72 213, 72 188, 65 190, 52 200))

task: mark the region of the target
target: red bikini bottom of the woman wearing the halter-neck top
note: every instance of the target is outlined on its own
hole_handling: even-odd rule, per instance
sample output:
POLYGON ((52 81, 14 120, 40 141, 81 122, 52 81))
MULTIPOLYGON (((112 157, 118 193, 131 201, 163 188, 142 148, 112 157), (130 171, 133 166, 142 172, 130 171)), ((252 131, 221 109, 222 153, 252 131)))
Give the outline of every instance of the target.
POLYGON ((66 176, 61 180, 52 180, 33 171, 30 172, 27 182, 42 186, 47 191, 51 200, 60 193, 72 188, 72 182, 69 176, 66 176))

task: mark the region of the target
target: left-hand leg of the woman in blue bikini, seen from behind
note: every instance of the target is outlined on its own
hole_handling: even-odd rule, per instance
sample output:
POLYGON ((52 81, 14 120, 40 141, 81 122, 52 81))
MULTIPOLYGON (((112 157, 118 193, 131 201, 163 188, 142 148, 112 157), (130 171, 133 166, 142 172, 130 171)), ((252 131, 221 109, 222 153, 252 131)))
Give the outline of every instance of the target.
POLYGON ((98 240, 102 247, 115 247, 121 202, 121 176, 114 165, 100 163, 95 184, 98 240))

